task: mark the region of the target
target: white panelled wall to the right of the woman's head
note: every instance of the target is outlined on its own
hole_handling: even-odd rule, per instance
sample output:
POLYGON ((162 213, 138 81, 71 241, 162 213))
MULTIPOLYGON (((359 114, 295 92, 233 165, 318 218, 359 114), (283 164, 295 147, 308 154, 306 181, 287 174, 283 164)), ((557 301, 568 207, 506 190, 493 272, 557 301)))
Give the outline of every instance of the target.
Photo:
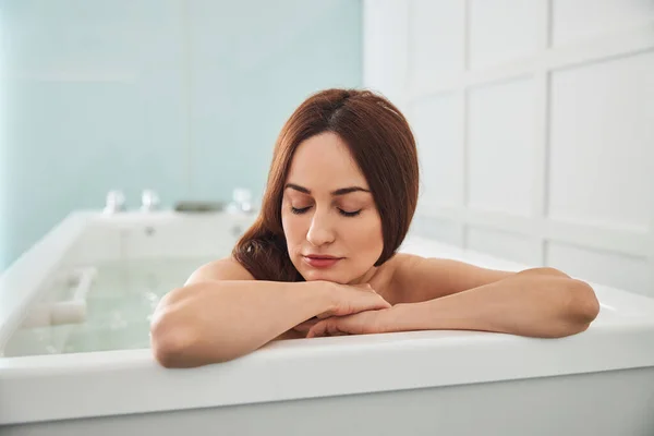
POLYGON ((654 296, 654 2, 364 1, 407 112, 414 231, 654 296))

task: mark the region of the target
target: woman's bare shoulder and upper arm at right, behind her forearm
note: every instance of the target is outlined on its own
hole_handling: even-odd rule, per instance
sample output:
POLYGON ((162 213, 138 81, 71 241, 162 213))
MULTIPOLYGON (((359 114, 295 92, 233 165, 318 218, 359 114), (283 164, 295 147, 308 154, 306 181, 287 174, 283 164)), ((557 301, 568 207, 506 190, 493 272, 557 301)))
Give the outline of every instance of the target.
POLYGON ((512 275, 455 259, 398 253, 393 256, 392 287, 402 302, 409 303, 477 288, 512 275))

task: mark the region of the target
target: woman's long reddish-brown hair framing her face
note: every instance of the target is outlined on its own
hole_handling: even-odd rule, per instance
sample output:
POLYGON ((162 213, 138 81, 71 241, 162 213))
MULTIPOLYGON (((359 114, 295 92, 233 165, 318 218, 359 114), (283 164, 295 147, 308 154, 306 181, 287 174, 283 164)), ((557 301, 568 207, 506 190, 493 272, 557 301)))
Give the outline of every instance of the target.
POLYGON ((415 211, 419 167, 415 140, 402 113, 370 90, 326 89, 293 112, 277 138, 262 210, 234 246, 232 256, 257 280, 302 281, 287 250, 281 201, 291 159, 305 140, 336 133, 365 175, 382 218, 388 261, 400 246, 415 211))

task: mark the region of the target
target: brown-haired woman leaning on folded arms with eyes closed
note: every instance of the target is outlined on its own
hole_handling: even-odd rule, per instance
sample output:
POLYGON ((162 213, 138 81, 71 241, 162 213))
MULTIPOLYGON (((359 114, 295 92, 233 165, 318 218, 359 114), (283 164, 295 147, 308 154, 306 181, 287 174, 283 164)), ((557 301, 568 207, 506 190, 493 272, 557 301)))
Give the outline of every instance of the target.
POLYGON ((159 303, 156 359, 191 367, 275 339, 402 330, 558 338, 597 316, 593 289, 554 268, 396 254, 417 186, 415 142, 392 104, 366 90, 312 96, 279 135, 261 215, 232 256, 159 303))

